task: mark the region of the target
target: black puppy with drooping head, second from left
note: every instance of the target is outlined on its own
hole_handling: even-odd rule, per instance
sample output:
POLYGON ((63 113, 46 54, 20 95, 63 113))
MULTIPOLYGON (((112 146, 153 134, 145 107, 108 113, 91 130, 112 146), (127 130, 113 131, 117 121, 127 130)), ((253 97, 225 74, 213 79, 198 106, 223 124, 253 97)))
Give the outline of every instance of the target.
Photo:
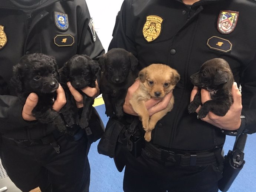
POLYGON ((95 81, 99 75, 99 64, 87 55, 75 55, 60 69, 61 82, 69 82, 83 96, 83 110, 79 126, 86 128, 92 113, 94 99, 87 96, 81 89, 84 87, 95 87, 95 81))

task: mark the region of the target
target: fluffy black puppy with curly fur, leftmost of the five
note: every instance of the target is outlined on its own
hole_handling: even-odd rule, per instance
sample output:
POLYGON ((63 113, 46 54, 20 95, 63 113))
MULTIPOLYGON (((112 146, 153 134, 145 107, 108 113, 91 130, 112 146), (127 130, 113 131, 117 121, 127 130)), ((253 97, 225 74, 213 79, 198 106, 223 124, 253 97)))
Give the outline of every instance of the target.
POLYGON ((32 110, 41 123, 54 123, 60 132, 66 132, 66 125, 58 112, 52 109, 59 87, 59 73, 53 57, 41 53, 28 54, 13 67, 12 85, 24 104, 30 93, 38 95, 38 103, 32 110))

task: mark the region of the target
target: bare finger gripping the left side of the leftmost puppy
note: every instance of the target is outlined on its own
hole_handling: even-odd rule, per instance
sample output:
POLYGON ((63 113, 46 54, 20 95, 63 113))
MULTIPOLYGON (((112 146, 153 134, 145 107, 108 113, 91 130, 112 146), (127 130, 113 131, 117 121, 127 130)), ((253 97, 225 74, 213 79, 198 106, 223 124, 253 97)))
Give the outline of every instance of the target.
POLYGON ((32 110, 35 108, 38 102, 38 96, 36 93, 30 93, 26 99, 25 105, 22 110, 22 118, 27 121, 36 120, 32 115, 32 110))

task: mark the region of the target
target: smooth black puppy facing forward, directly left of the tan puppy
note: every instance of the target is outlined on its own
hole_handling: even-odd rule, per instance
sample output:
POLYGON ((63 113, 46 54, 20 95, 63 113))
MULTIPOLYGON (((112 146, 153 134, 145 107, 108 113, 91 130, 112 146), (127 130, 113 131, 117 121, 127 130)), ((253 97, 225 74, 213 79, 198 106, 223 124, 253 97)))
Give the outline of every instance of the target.
POLYGON ((138 60, 121 48, 114 48, 99 59, 101 65, 101 92, 105 102, 106 115, 124 116, 123 105, 127 89, 138 76, 138 60))

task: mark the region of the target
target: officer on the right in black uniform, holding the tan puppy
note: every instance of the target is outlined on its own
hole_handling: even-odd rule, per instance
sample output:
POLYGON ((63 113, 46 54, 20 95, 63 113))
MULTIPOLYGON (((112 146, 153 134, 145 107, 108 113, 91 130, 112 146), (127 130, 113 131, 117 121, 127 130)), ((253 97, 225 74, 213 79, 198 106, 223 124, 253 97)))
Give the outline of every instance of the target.
MULTIPOLYGON (((109 49, 132 52, 139 69, 164 63, 181 75, 173 93, 158 104, 152 99, 147 103, 152 115, 175 96, 173 110, 158 121, 141 156, 133 157, 125 145, 121 148, 126 155, 125 192, 218 191, 225 141, 222 131, 256 132, 255 9, 252 0, 124 0, 109 49), (210 112, 197 119, 196 113, 187 112, 197 92, 190 76, 216 57, 230 64, 236 82, 234 102, 223 117, 210 112)), ((135 82, 129 88, 124 104, 124 111, 131 115, 137 115, 129 105, 137 87, 135 82)), ((202 103, 210 99, 206 90, 201 95, 202 103)))

